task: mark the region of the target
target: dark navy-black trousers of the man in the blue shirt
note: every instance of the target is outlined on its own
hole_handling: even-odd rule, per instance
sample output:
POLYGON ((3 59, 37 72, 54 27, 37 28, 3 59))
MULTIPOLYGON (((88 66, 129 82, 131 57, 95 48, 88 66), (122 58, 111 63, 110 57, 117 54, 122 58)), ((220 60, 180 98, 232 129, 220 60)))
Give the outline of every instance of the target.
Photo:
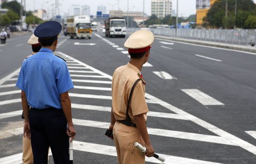
POLYGON ((29 112, 34 164, 47 164, 49 146, 54 163, 69 163, 67 120, 62 109, 34 109, 29 112))

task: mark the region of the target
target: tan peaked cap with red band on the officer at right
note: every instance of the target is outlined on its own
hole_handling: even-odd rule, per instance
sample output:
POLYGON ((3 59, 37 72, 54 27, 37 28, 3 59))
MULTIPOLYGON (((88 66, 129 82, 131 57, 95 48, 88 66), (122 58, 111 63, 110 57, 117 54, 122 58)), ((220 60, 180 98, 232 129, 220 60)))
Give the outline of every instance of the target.
POLYGON ((126 40, 124 46, 131 53, 141 53, 149 50, 154 42, 154 34, 149 30, 138 30, 126 40))

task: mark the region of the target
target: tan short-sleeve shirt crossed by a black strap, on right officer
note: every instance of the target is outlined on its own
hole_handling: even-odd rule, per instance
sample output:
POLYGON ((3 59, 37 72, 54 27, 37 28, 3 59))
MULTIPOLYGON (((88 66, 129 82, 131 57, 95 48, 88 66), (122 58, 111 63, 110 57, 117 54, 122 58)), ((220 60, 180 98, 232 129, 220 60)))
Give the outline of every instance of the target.
MULTIPOLYGON (((112 107, 116 120, 126 119, 127 102, 133 84, 140 78, 138 73, 140 73, 140 70, 130 63, 118 67, 114 71, 112 79, 112 107)), ((147 120, 147 112, 145 84, 140 80, 133 90, 129 116, 135 122, 133 116, 144 113, 145 120, 147 120)))

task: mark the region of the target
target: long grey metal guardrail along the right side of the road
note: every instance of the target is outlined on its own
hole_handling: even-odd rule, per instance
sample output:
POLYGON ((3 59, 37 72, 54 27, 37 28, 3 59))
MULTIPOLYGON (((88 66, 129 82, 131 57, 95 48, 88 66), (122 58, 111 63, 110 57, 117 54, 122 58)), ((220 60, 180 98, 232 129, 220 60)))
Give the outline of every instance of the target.
MULTIPOLYGON (((140 28, 129 28, 134 32, 140 28)), ((175 38, 195 39, 217 43, 251 45, 256 42, 256 29, 150 29, 153 34, 175 38)))

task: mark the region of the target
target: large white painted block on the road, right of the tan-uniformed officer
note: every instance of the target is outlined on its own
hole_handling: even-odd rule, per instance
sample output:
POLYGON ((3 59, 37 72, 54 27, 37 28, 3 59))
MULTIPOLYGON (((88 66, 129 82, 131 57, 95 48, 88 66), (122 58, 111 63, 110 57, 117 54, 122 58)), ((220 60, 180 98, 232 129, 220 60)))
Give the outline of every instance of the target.
POLYGON ((199 91, 198 89, 181 89, 181 91, 185 92, 203 105, 224 105, 223 103, 215 100, 213 97, 199 91))

